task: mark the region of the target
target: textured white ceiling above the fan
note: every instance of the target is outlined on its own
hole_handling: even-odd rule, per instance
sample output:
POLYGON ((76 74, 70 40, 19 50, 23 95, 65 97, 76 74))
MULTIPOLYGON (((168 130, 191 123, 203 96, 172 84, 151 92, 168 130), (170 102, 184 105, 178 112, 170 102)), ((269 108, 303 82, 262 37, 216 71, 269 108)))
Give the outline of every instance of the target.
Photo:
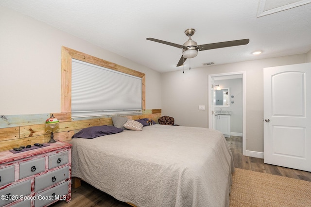
MULTIPOLYGON (((290 2, 299 0, 290 0, 290 2)), ((302 54, 311 50, 311 3, 261 17, 265 0, 0 0, 0 5, 31 16, 159 72, 176 67, 182 45, 194 28, 199 45, 249 38, 248 45, 199 51, 185 68, 302 54), (262 6, 262 5, 261 5, 262 6), (263 53, 254 56, 254 50, 263 53)), ((275 9, 275 8, 274 8, 275 9)), ((82 51, 83 52, 83 51, 82 51)))

